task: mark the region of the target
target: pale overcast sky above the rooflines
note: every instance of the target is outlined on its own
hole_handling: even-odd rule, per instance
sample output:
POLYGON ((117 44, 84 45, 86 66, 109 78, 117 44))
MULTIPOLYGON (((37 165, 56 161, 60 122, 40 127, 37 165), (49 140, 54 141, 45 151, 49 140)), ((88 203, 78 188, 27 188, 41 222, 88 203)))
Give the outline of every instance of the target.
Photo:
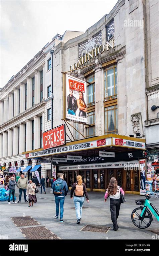
POLYGON ((0 1, 0 87, 51 39, 65 30, 86 31, 117 0, 0 1))

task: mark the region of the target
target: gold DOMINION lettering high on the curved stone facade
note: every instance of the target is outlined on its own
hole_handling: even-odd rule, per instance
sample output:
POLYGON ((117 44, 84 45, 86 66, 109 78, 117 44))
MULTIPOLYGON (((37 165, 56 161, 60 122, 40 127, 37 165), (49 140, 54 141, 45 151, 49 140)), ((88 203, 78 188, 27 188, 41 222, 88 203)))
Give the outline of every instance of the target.
POLYGON ((77 62, 75 62, 73 65, 71 65, 69 67, 69 70, 72 71, 76 68, 79 68, 81 65, 85 64, 86 62, 88 62, 90 59, 96 57, 98 54, 102 54, 105 51, 109 51, 109 47, 111 47, 112 49, 114 49, 114 39, 111 40, 112 44, 110 44, 109 42, 106 42, 106 45, 101 44, 100 46, 95 47, 92 51, 86 53, 84 56, 82 56, 81 58, 79 58, 77 60, 77 62))

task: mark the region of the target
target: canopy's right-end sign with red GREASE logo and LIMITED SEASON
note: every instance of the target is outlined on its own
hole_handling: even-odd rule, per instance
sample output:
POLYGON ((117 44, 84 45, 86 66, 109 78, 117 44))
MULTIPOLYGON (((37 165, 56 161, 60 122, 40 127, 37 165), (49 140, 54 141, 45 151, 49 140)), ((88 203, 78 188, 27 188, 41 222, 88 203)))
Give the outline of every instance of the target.
POLYGON ((145 142, 133 141, 128 139, 118 139, 113 137, 113 145, 127 148, 145 149, 145 142))

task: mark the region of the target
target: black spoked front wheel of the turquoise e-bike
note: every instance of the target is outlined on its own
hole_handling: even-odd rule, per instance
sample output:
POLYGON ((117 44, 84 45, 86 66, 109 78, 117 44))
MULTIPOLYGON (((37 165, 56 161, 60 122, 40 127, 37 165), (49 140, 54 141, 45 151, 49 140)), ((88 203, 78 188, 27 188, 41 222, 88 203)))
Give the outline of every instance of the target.
POLYGON ((140 215, 143 211, 144 207, 138 207, 134 209, 134 211, 131 213, 131 220, 133 221, 134 225, 138 228, 148 228, 151 225, 151 216, 148 212, 145 211, 143 217, 141 218, 140 215))

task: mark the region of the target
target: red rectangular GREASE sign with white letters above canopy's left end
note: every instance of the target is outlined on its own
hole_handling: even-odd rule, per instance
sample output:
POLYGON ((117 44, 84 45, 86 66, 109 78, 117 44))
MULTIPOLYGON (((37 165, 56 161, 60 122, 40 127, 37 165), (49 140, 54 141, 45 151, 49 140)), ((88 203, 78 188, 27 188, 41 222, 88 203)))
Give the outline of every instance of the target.
POLYGON ((66 143, 65 124, 43 132, 43 149, 59 147, 66 143))

